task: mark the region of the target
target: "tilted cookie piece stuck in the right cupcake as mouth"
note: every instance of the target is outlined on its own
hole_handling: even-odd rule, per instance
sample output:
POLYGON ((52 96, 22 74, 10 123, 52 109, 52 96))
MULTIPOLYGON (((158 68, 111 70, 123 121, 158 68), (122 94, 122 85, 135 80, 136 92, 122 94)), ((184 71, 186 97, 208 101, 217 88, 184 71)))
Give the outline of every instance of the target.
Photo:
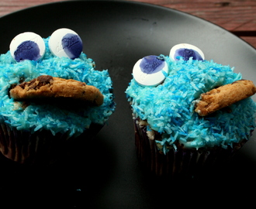
POLYGON ((206 116, 237 101, 251 97, 255 93, 256 87, 252 81, 234 81, 232 84, 223 85, 201 94, 195 111, 200 116, 206 116))

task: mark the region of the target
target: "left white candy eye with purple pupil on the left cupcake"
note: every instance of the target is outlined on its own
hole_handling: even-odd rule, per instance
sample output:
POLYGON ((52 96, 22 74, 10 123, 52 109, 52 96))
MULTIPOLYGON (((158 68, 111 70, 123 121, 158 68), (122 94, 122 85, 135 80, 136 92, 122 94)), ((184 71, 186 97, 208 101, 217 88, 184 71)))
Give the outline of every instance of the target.
POLYGON ((45 44, 36 33, 20 33, 10 43, 10 53, 14 60, 40 60, 45 53, 45 44))

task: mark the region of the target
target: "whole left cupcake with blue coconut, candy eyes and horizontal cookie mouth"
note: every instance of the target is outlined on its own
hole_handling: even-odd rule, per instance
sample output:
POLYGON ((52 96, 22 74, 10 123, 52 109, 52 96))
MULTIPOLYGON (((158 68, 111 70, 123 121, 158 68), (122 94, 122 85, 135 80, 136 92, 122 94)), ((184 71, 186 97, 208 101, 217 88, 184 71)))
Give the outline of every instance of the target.
POLYGON ((53 163, 69 143, 92 139, 115 109, 108 70, 82 52, 80 36, 21 33, 0 56, 0 152, 19 163, 53 163))

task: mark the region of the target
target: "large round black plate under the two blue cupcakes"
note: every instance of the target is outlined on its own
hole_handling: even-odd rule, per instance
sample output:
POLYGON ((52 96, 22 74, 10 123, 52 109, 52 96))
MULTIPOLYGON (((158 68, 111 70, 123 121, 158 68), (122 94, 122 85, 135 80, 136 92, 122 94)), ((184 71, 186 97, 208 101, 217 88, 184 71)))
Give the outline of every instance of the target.
POLYGON ((192 15, 138 2, 40 5, 5 15, 0 26, 0 53, 9 50, 12 38, 25 31, 47 37, 61 27, 74 29, 96 68, 109 69, 117 103, 109 125, 96 139, 70 150, 72 156, 55 166, 23 167, 1 159, 1 198, 9 206, 160 208, 166 204, 171 208, 177 204, 202 206, 204 200, 210 200, 209 205, 223 205, 223 200, 230 205, 254 186, 255 136, 233 163, 202 178, 167 183, 148 175, 137 161, 131 111, 124 93, 138 59, 149 54, 168 55, 177 43, 198 46, 206 59, 230 64, 256 83, 256 50, 237 36, 192 15), (12 200, 3 200, 3 195, 12 200))

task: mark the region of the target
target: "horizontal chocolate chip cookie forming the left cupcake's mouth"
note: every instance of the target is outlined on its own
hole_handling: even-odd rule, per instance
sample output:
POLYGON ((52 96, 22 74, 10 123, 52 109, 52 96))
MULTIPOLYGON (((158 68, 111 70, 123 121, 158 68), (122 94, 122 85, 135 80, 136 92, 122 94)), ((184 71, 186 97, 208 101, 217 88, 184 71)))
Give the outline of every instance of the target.
POLYGON ((103 95, 97 87, 73 79, 63 79, 42 75, 16 85, 10 90, 16 101, 74 100, 91 105, 102 105, 103 95))

